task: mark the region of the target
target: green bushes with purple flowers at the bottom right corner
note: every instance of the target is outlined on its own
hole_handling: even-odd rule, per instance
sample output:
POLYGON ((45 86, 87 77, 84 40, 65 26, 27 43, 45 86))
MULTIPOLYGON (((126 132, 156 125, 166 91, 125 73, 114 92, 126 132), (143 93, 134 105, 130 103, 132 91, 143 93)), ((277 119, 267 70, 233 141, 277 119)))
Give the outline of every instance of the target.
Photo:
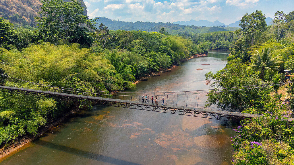
POLYGON ((234 129, 232 164, 294 164, 294 127, 285 120, 291 116, 288 105, 274 100, 265 109, 263 118, 234 129))

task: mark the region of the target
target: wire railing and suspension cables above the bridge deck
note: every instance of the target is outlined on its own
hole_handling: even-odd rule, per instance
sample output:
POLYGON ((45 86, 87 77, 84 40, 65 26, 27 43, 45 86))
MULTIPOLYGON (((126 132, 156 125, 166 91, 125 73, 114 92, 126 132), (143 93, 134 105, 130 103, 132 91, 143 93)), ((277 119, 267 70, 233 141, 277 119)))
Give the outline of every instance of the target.
MULTIPOLYGON (((3 74, 0 74, 3 75, 3 74)), ((7 76, 7 75, 4 75, 7 76)), ((262 85, 250 85, 243 87, 230 87, 230 88, 216 88, 216 89, 207 89, 207 90, 193 90, 193 91, 178 91, 178 92, 108 92, 108 91, 96 91, 94 89, 87 89, 86 87, 83 89, 74 89, 68 87, 57 87, 48 84, 40 84, 29 82, 17 78, 13 78, 7 76, 11 79, 11 81, 16 82, 24 82, 26 83, 24 86, 27 88, 31 88, 32 90, 44 90, 51 92, 62 92, 67 94, 75 94, 75 95, 85 95, 85 96, 95 96, 95 97, 105 97, 105 98, 113 98, 119 100, 133 101, 137 103, 143 104, 152 104, 151 96, 153 96, 153 104, 156 104, 156 97, 158 99, 158 105, 169 105, 170 107, 179 106, 179 107, 194 107, 194 108, 204 108, 204 109, 214 109, 214 110, 222 110, 217 105, 207 106, 206 100, 207 95, 211 93, 218 92, 232 92, 237 90, 251 90, 259 87, 271 87, 274 85, 283 85, 285 83, 292 83, 294 81, 288 82, 280 82, 280 83, 268 83, 262 85), (145 97, 147 95, 147 102, 145 97), (144 97, 144 101, 142 99, 144 97), (164 102, 162 100, 164 98, 164 102)), ((230 107, 230 106, 227 106, 230 107)), ((236 109, 242 109, 241 107, 235 107, 235 109, 231 109, 231 111, 236 111, 236 109)), ((228 110, 228 109, 225 109, 228 110)))

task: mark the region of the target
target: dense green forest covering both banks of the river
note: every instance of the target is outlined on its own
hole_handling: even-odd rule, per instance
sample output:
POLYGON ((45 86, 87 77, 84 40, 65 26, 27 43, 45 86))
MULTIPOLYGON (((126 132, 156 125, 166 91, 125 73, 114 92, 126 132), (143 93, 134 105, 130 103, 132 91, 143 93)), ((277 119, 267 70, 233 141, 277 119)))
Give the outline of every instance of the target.
MULTIPOLYGON (((230 50, 225 68, 206 74, 214 88, 278 83, 285 81, 285 69, 294 70, 294 11, 277 11, 270 26, 265 23, 265 15, 255 11, 245 14, 241 28, 234 32, 195 34, 178 28, 173 29, 176 35, 171 35, 163 25, 156 27, 158 32, 109 30, 107 24, 96 25, 95 20, 83 15, 77 1, 44 0, 44 4, 35 17, 36 27, 14 26, 0 18, 1 74, 109 94, 133 88, 136 78, 177 65, 193 54, 207 53, 208 49, 230 50), (52 13, 56 15, 49 17, 52 13)), ((5 76, 0 76, 0 84, 53 90, 5 76)), ((209 93, 210 105, 264 115, 243 121, 235 129, 238 135, 232 137, 233 164, 293 164, 294 127, 287 125, 286 119, 293 113, 294 83, 209 93), (282 98, 284 93, 290 97, 282 98)), ((91 107, 91 102, 77 105, 66 99, 0 92, 0 145, 7 147, 25 134, 38 134, 41 126, 74 106, 91 107)))

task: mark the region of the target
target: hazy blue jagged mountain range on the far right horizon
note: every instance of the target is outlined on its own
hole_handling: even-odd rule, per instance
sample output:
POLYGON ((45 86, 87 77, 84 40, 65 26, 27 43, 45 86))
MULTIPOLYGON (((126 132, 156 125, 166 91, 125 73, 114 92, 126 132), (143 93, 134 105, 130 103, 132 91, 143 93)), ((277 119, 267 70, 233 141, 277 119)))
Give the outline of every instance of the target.
MULTIPOLYGON (((273 21, 273 18, 265 18, 265 22, 268 25, 271 25, 273 21)), ((241 22, 241 20, 236 21, 235 23, 230 23, 228 25, 228 27, 239 27, 239 23, 241 22)), ((173 24, 179 24, 179 25, 188 25, 188 26, 218 26, 218 27, 227 27, 227 25, 225 25, 224 23, 221 23, 220 21, 207 21, 207 20, 200 20, 200 21, 195 21, 193 19, 191 19, 190 21, 177 21, 177 22, 173 22, 173 24)))

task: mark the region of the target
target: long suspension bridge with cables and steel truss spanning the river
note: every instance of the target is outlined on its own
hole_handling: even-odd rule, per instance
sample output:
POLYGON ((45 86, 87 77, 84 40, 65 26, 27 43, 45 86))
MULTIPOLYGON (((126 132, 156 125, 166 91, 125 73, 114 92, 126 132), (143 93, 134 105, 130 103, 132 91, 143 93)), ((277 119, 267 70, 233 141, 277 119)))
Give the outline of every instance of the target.
MULTIPOLYGON (((0 74, 3 75, 3 74, 0 74)), ((6 76, 6 75, 3 75, 6 76)), ((9 78, 13 78, 7 76, 9 78)), ((14 78, 16 80, 21 80, 14 78)), ((255 89, 259 87, 269 87, 273 85, 283 85, 285 83, 293 83, 294 81, 282 82, 282 83, 269 83, 262 85, 250 85, 243 87, 230 87, 230 88, 218 88, 208 90, 193 90, 193 91, 179 91, 179 92, 113 92, 109 93, 106 91, 93 91, 93 90, 81 90, 66 87, 57 87, 52 85, 44 85, 34 82, 21 80, 26 83, 36 85, 41 90, 27 89, 19 87, 10 87, 0 85, 0 89, 4 92, 26 94, 26 95, 41 95, 44 97, 67 97, 74 98, 77 100, 91 100, 101 102, 103 105, 124 107, 136 110, 146 110, 153 112, 163 112, 170 114, 202 117, 209 119, 218 119, 226 121, 240 121, 250 120, 252 118, 262 117, 259 114, 249 114, 242 112, 225 111, 216 106, 206 107, 205 104, 199 103, 199 97, 201 95, 207 95, 211 92, 224 92, 224 91, 235 91, 245 89, 255 89), (151 98, 148 101, 145 100, 146 95, 153 95, 158 97, 158 105, 156 105, 155 97, 153 103, 151 98), (144 100, 142 98, 144 97, 144 100), (161 98, 164 98, 164 102, 161 98)), ((292 122, 293 118, 286 119, 288 122, 292 122)))

